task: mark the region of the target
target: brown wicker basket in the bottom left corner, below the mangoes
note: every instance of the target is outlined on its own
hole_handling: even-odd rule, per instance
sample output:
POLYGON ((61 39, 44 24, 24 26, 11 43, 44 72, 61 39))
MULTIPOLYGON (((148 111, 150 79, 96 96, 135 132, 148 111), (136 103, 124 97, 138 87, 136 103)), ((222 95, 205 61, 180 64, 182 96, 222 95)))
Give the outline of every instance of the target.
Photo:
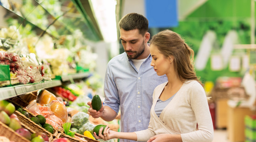
MULTIPOLYGON (((31 132, 31 131, 30 131, 31 132)), ((14 142, 30 142, 0 121, 0 135, 14 142)))

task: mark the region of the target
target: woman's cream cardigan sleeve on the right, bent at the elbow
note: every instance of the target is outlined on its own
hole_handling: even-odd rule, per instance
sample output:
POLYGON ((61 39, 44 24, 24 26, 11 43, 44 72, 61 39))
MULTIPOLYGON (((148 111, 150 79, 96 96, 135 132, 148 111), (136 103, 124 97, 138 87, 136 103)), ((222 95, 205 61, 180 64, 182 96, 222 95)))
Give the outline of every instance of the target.
POLYGON ((203 87, 195 83, 191 87, 190 102, 198 123, 198 130, 181 134, 183 142, 212 142, 213 123, 203 87))

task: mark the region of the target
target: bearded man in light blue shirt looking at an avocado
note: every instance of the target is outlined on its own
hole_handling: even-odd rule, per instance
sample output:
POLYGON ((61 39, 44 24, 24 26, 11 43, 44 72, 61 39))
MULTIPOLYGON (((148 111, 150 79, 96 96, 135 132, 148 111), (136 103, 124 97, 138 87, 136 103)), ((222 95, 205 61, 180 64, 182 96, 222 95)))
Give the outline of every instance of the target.
MULTIPOLYGON (((149 125, 153 90, 157 85, 167 82, 167 77, 158 76, 150 66, 152 58, 147 44, 150 38, 147 18, 130 13, 122 17, 118 24, 125 52, 108 63, 104 81, 104 107, 99 111, 90 107, 88 111, 94 118, 112 121, 120 106, 121 132, 145 130, 149 125)), ((91 102, 87 104, 91 106, 91 102)))

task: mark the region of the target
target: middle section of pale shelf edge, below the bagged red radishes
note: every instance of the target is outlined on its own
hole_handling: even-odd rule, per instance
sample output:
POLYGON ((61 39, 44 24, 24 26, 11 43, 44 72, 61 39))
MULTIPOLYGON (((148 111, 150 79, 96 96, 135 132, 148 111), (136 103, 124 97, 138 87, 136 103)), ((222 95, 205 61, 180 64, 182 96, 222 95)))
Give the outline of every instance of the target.
POLYGON ((42 83, 29 83, 23 85, 14 86, 14 90, 17 95, 25 94, 28 92, 36 91, 43 88, 50 88, 62 85, 60 80, 45 81, 42 83))

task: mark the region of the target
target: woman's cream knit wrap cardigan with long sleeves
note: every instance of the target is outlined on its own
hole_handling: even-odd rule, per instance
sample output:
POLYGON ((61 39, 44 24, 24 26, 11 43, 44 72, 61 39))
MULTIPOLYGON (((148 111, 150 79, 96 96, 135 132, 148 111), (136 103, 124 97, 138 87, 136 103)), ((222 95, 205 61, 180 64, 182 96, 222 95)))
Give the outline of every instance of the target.
POLYGON ((147 141, 154 135, 165 133, 181 134, 183 142, 212 142, 212 118, 204 88, 197 81, 185 81, 160 117, 156 115, 157 99, 167 83, 154 89, 149 126, 146 130, 135 132, 137 141, 147 141))

